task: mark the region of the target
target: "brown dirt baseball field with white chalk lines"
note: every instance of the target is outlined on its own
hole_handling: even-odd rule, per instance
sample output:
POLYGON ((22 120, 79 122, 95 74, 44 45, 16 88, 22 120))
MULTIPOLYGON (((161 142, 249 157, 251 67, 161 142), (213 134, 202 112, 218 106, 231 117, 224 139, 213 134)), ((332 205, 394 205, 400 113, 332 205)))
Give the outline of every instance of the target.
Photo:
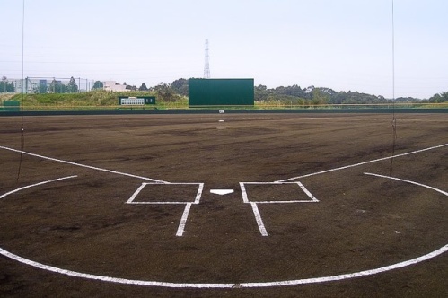
POLYGON ((397 118, 0 118, 0 296, 447 296, 448 118, 397 118))

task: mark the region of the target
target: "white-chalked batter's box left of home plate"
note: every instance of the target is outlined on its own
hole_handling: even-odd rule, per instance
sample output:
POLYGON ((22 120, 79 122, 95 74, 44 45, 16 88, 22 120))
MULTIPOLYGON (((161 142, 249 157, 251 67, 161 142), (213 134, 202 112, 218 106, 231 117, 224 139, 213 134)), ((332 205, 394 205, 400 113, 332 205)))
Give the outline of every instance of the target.
POLYGON ((127 204, 198 204, 204 183, 142 183, 127 204))

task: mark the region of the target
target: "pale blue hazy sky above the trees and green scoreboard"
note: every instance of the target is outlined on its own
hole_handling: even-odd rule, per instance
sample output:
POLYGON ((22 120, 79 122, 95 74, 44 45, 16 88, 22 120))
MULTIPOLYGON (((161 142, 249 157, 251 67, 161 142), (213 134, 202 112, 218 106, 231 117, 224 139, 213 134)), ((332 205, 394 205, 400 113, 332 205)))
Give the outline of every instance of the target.
POLYGON ((427 99, 448 92, 447 15, 446 0, 24 0, 23 19, 0 0, 0 76, 23 62, 24 77, 172 83, 204 76, 208 39, 211 78, 427 99))

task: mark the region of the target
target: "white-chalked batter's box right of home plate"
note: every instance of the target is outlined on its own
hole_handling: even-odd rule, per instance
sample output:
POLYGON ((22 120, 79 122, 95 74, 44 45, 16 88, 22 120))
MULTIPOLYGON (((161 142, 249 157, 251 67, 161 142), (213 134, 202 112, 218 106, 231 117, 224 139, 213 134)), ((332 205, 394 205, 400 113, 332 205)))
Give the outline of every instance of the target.
POLYGON ((244 203, 287 204, 319 202, 301 182, 240 182, 244 203))

